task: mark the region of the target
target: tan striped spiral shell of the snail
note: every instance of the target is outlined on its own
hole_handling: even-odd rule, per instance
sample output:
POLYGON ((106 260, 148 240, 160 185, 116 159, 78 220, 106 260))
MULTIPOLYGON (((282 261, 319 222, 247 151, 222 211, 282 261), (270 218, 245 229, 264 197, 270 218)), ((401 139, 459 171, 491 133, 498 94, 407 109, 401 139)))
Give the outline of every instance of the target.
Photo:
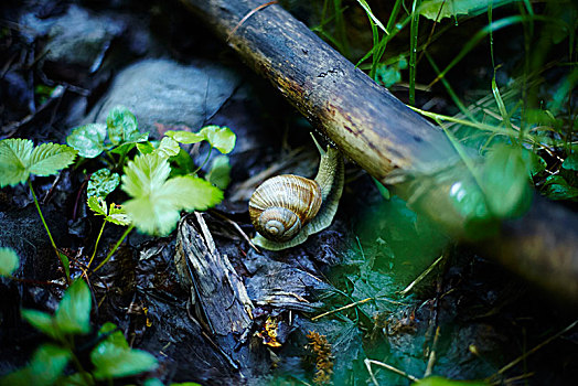
POLYGON ((249 216, 257 232, 274 242, 295 237, 321 207, 319 184, 283 174, 265 181, 249 201, 249 216))

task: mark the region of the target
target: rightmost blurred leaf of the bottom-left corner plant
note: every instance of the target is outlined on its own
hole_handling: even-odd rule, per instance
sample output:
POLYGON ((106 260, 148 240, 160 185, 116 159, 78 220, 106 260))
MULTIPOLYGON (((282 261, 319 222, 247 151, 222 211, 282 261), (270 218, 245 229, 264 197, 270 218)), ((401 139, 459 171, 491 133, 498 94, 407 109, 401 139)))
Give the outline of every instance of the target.
POLYGON ((158 366, 157 358, 151 354, 122 347, 109 340, 101 342, 90 352, 90 361, 95 366, 93 374, 96 379, 137 375, 158 366))

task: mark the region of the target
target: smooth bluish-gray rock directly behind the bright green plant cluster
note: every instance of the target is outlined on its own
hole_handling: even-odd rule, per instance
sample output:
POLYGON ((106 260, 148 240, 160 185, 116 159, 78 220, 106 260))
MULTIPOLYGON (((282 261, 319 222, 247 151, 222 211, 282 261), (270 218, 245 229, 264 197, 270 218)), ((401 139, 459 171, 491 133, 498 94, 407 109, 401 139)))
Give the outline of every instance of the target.
POLYGON ((126 106, 141 131, 156 136, 154 124, 200 129, 240 84, 240 77, 217 64, 181 65, 169 60, 144 60, 120 72, 108 93, 88 115, 105 122, 116 105, 126 106))

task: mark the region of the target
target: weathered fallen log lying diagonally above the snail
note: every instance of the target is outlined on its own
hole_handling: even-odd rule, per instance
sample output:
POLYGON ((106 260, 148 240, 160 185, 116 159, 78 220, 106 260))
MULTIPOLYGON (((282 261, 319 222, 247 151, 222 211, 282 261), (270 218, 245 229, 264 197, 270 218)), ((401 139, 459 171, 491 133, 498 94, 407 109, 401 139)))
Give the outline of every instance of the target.
MULTIPOLYGON (((450 199, 467 179, 437 127, 325 44, 275 1, 181 0, 244 62, 371 175, 456 238, 468 218, 450 199)), ((481 245, 504 266, 578 301, 578 217, 537 200, 481 245), (554 224, 553 224, 554 222, 554 224)))

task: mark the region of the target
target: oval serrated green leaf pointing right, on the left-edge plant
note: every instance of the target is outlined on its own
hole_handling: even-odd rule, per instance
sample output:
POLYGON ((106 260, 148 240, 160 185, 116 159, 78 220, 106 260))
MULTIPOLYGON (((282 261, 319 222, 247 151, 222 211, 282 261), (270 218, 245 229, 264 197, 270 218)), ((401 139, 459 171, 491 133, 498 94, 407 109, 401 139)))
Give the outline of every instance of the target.
POLYGON ((76 158, 76 150, 66 144, 42 143, 32 150, 30 156, 30 173, 36 175, 56 174, 68 167, 76 158))

